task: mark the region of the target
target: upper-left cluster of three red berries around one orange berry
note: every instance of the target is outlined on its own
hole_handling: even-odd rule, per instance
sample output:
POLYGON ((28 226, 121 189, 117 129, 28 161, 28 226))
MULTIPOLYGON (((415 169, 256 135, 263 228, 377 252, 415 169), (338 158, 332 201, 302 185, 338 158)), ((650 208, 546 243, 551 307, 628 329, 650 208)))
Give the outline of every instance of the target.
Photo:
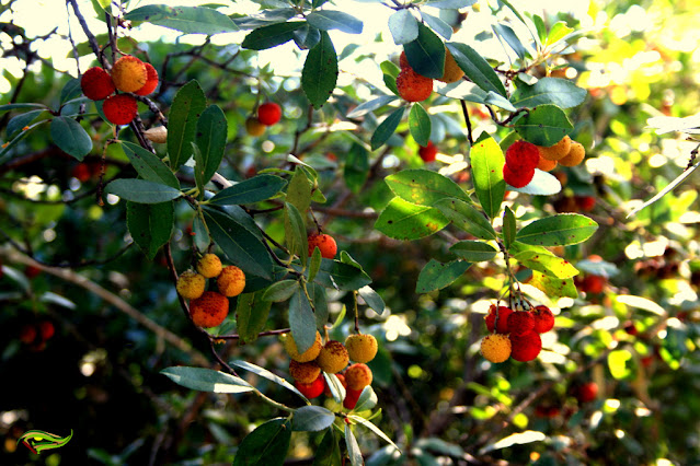
POLYGON ((80 79, 85 97, 104 101, 104 116, 114 125, 128 125, 136 117, 136 95, 148 95, 158 86, 158 71, 150 63, 126 55, 114 62, 108 73, 100 67, 87 70, 80 79), (115 94, 116 91, 123 94, 115 94))

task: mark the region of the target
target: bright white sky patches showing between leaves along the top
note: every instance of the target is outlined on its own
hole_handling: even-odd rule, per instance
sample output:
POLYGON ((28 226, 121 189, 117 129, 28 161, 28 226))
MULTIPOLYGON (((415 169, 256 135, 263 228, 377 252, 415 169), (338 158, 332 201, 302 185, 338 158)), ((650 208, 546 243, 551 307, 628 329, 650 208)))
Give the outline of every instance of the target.
MULTIPOLYGON (((485 3, 485 1, 486 0, 481 0, 481 3, 485 3)), ((76 43, 82 43, 85 40, 85 36, 82 33, 82 28, 80 27, 76 16, 72 14, 72 10, 69 14, 66 2, 57 0, 16 0, 13 3, 12 12, 7 9, 8 2, 9 0, 0 0, 0 4, 2 5, 0 7, 0 22, 13 22, 14 24, 24 27, 27 36, 43 36, 54 30, 54 27, 58 27, 60 36, 54 35, 48 40, 37 42, 37 51, 43 58, 50 60, 56 69, 68 71, 72 75, 77 75, 78 67, 74 59, 70 58, 70 43, 67 40, 67 37, 70 32, 76 43), (42 12, 38 15, 37 10, 41 10, 42 12)), ((134 7, 130 5, 129 8, 151 3, 196 5, 202 2, 203 1, 197 0, 141 0, 131 2, 134 7)), ((90 0, 79 0, 78 3, 81 11, 83 11, 83 14, 87 16, 91 31, 97 33, 102 31, 104 28, 104 23, 90 18, 93 12, 90 0)), ((234 2, 220 0, 219 3, 230 5, 221 10, 225 13, 253 13, 259 8, 256 3, 250 0, 238 0, 234 2)), ((387 26, 387 20, 392 13, 392 10, 380 3, 367 3, 355 0, 336 0, 334 3, 335 4, 330 5, 330 8, 341 9, 354 14, 365 24, 364 32, 360 35, 349 35, 333 31, 331 33, 331 37, 337 51, 342 50, 345 45, 353 42, 369 44, 374 40, 378 33, 381 33, 383 37, 388 37, 388 40, 385 40, 381 45, 376 43, 372 44, 372 53, 378 55, 379 60, 383 60, 385 58, 395 55, 399 47, 391 40, 387 26), (358 14, 359 12, 362 12, 362 14, 358 14)), ((516 8, 540 13, 543 10, 550 12, 555 11, 556 9, 566 10, 573 12, 578 18, 584 18, 588 9, 588 0, 513 0, 513 3, 516 8)), ((432 12, 429 10, 431 9, 427 9, 426 11, 437 14, 437 10, 432 12)), ((469 34, 467 31, 470 30, 470 24, 480 24, 480 26, 483 26, 483 21, 491 21, 491 16, 487 11, 489 9, 482 8, 481 14, 470 12, 470 16, 463 27, 466 35, 469 34)), ((213 43, 220 45, 240 43, 244 34, 246 34, 246 32, 219 34, 213 37, 213 43)), ((152 39, 158 36, 163 36, 174 40, 180 33, 160 26, 144 24, 131 30, 130 35, 137 40, 152 39)), ((473 36, 473 34, 469 35, 470 37, 473 36)), ((204 35, 194 34, 184 37, 184 42, 190 42, 195 45, 200 43, 204 35)), ((183 38, 181 38, 181 42, 182 39, 183 38)), ((454 39, 459 42, 459 37, 457 35, 454 39)), ((10 37, 7 34, 0 33, 0 47, 2 49, 7 49, 11 46, 9 40, 10 37)), ((84 71, 87 68, 94 65, 92 60, 93 57, 91 56, 84 57, 80 63, 80 69, 84 71)), ((294 55, 294 46, 291 44, 261 53, 260 60, 261 66, 266 62, 274 63, 275 72, 282 75, 290 75, 298 72, 300 65, 299 59, 294 55)), ((349 62, 344 65, 349 67, 346 71, 351 74, 363 71, 362 63, 355 63, 357 68, 353 68, 353 63, 349 62)), ((23 72, 23 63, 13 58, 0 58, 0 69, 4 69, 15 77, 21 77, 23 72)), ((9 91, 10 83, 4 78, 0 77, 0 94, 5 94, 9 91)), ((0 102, 2 102, 1 98, 0 102)))

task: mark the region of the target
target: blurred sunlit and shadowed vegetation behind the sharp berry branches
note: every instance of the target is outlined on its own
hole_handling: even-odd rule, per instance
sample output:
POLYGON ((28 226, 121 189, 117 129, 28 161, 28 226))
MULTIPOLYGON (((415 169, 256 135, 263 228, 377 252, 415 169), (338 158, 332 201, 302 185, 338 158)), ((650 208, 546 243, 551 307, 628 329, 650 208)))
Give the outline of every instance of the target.
MULTIPOLYGON (((0 7, 3 59, 15 63, 1 70, 9 85, 0 104, 56 105, 71 77, 37 56, 47 40, 26 35, 24 25, 13 21, 16 3, 5 0, 0 7)), ((520 220, 579 211, 600 229, 588 242, 559 251, 582 270, 578 299, 547 302, 526 287, 558 314, 544 350, 529 363, 494 365, 478 353, 483 315, 505 280, 503 264, 481 263, 454 286, 420 295, 417 275, 429 258, 447 256, 444 242, 432 236, 397 242, 372 231, 376 212, 391 198, 383 176, 424 164, 404 124, 381 158, 370 154, 365 178, 346 163, 352 137, 341 129, 367 136, 376 127, 371 114, 362 123, 345 115, 375 92, 376 71, 367 63, 378 70, 386 58, 397 62, 399 47, 388 57, 377 55, 372 44, 338 48, 340 89, 307 127, 298 71, 280 73, 274 61, 262 65, 254 51, 158 35, 121 46, 147 53, 161 73, 153 96, 161 108, 191 79, 221 106, 229 121, 221 167, 227 178, 280 166, 290 152, 321 173, 329 201, 314 209, 319 221, 341 249, 363 264, 389 307, 380 317, 363 306, 360 326, 380 341, 380 354, 370 363, 382 409, 375 422, 405 455, 399 458, 374 435, 359 435, 367 464, 429 465, 438 458, 447 462, 441 464, 696 464, 700 212, 693 178, 628 214, 675 179, 696 149, 687 135, 657 135, 646 120, 687 117, 699 107, 700 30, 693 22, 699 3, 596 0, 583 14, 579 9, 575 15, 552 9, 543 14, 549 24, 565 21, 583 33, 549 69, 536 73, 571 79, 588 91, 586 102, 571 113, 575 139, 588 154, 578 167, 558 168, 561 194, 512 194, 508 200, 520 220), (363 66, 367 75, 344 74, 363 66), (265 137, 252 138, 244 120, 259 95, 280 103, 284 118, 265 137), (601 287, 592 286, 592 276, 603 277, 597 280, 601 287), (590 391, 590 383, 597 394, 588 399, 583 392, 590 391)), ((497 7, 495 1, 478 4, 482 13, 497 7)), ((473 37, 477 31, 470 27, 480 13, 473 8, 464 12, 461 33, 473 37)), ((92 11, 84 14, 96 18, 92 11)), ((390 37, 377 40, 393 47, 390 37)), ((431 108, 440 155, 427 167, 463 182, 457 170, 467 147, 461 109, 440 96, 431 108)), ((469 109, 477 133, 507 133, 490 123, 483 107, 469 104, 469 109)), ((0 141, 11 139, 10 123, 21 113, 0 114, 0 141)), ((152 114, 145 112, 146 126, 148 118, 152 114)), ((15 147, 15 156, 0 164, 0 463, 230 463, 241 439, 278 413, 251 403, 246 394, 194 392, 159 374, 171 365, 214 366, 214 361, 207 341, 179 307, 162 254, 148 261, 136 246, 128 247, 123 202, 96 203, 97 179, 85 168, 99 166, 110 129, 101 120, 90 125, 94 150, 84 165, 53 145, 46 127, 35 129, 15 147), (59 268, 36 267, 30 257, 59 268), (39 457, 16 446, 28 429, 61 435, 72 429, 74 436, 39 457)), ((106 158, 106 178, 128 173, 121 151, 110 148, 106 158)), ((175 264, 185 269, 192 211, 180 207, 172 245, 175 264)), ((284 235, 280 217, 256 220, 271 236, 284 235)), ((347 298, 329 296, 332 315, 347 298)), ((266 328, 286 325, 285 308, 274 306, 266 328)), ((342 338, 351 326, 347 319, 334 331, 342 338)), ((287 371, 276 337, 227 343, 220 352, 282 375, 287 371)), ((279 387, 252 382, 294 403, 279 387)), ((311 464, 319 441, 295 433, 290 461, 311 464)))

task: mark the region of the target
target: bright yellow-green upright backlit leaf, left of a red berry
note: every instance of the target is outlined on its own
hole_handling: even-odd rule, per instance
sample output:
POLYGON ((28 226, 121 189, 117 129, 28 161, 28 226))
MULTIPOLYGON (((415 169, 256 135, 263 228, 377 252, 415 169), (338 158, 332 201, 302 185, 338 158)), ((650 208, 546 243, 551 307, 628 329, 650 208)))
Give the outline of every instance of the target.
POLYGON ((474 143, 470 158, 477 197, 486 215, 493 219, 498 214, 505 195, 505 156, 498 143, 487 137, 474 143))

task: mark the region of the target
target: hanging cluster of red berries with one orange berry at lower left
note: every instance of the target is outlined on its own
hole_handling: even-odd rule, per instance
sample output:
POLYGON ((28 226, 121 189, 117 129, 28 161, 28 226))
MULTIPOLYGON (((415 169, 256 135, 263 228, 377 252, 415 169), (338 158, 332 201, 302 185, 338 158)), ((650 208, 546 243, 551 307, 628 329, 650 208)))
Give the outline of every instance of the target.
POLYGON ((481 340, 484 358, 491 362, 503 362, 508 358, 526 362, 537 358, 542 350, 540 334, 554 327, 554 314, 542 305, 530 311, 492 305, 485 323, 492 334, 481 340))

